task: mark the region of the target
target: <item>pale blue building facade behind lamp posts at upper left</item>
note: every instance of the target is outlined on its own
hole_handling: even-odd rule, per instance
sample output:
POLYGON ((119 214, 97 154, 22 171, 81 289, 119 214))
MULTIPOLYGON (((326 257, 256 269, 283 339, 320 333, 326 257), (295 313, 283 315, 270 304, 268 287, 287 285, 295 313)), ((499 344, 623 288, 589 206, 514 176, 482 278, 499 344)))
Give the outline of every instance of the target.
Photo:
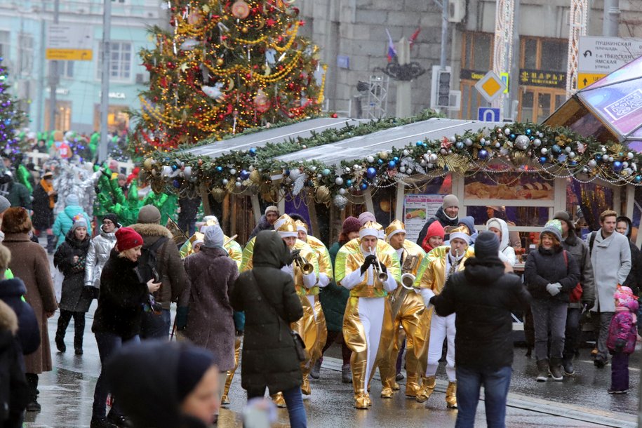
MULTIPOLYGON (((86 29, 93 42, 91 60, 58 61, 53 126, 49 123, 51 61, 45 59, 45 48, 54 1, 0 2, 0 55, 10 67, 15 93, 29 113, 29 129, 90 133, 100 129, 103 1, 59 2, 59 24, 86 29)), ((138 51, 154 44, 148 26, 163 27, 167 22, 158 0, 112 0, 109 131, 128 128, 126 110, 138 109, 138 91, 149 81, 138 51)))

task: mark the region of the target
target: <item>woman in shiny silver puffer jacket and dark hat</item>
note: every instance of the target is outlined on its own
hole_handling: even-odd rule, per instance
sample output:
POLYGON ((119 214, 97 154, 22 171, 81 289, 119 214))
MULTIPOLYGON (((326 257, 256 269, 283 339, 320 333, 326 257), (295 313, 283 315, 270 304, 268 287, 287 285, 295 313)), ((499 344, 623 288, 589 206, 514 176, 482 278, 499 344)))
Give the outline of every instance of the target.
POLYGON ((89 244, 87 260, 85 263, 85 286, 100 288, 100 274, 102 267, 109 260, 109 253, 116 244, 116 230, 121 227, 116 214, 107 213, 102 218, 102 226, 98 235, 94 236, 89 244))

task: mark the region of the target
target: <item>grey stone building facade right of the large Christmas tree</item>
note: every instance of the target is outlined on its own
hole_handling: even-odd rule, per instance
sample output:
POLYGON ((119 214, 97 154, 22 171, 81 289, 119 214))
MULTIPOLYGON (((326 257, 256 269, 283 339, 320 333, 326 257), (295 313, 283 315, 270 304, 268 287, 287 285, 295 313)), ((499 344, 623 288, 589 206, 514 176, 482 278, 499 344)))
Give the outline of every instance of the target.
MULTIPOLYGON (((568 32, 572 0, 516 0, 514 44, 517 62, 510 79, 513 119, 542 121, 566 100, 568 32)), ((601 36, 603 1, 591 0, 587 35, 601 36)), ((493 69, 495 0, 450 0, 447 64, 452 67, 450 88, 461 91, 461 107, 448 116, 477 119, 478 107, 487 107, 474 85, 493 69)), ((345 110, 359 95, 358 81, 371 74, 382 75, 375 67, 387 64, 387 34, 394 41, 408 38, 417 28, 420 34, 410 49, 411 60, 426 73, 412 82, 412 110, 430 107, 431 69, 439 65, 441 7, 434 0, 316 0, 303 2, 306 31, 322 47, 328 64, 326 97, 330 110, 345 110)), ((620 0, 620 37, 642 38, 642 2, 620 0)), ((390 81, 387 114, 394 115, 396 82, 390 81)), ((367 106, 366 106, 367 107, 367 106)))

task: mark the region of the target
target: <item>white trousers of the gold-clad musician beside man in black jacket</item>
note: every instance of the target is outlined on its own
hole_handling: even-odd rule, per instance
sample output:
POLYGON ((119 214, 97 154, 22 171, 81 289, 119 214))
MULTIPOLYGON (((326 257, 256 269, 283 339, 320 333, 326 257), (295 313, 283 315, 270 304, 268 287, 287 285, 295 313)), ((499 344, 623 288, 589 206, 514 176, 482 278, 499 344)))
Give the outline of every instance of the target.
POLYGON ((444 339, 448 339, 446 375, 448 375, 449 382, 455 382, 455 314, 439 316, 433 312, 430 321, 430 342, 428 343, 426 376, 434 376, 435 373, 437 373, 444 339))

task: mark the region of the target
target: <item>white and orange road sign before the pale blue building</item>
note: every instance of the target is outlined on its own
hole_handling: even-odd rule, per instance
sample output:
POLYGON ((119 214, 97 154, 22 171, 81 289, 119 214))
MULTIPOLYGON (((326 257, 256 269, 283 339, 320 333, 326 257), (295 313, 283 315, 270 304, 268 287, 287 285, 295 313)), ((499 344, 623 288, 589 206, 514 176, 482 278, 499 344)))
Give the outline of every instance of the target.
POLYGON ((49 25, 47 29, 47 60, 91 61, 93 59, 93 27, 91 25, 49 25))

